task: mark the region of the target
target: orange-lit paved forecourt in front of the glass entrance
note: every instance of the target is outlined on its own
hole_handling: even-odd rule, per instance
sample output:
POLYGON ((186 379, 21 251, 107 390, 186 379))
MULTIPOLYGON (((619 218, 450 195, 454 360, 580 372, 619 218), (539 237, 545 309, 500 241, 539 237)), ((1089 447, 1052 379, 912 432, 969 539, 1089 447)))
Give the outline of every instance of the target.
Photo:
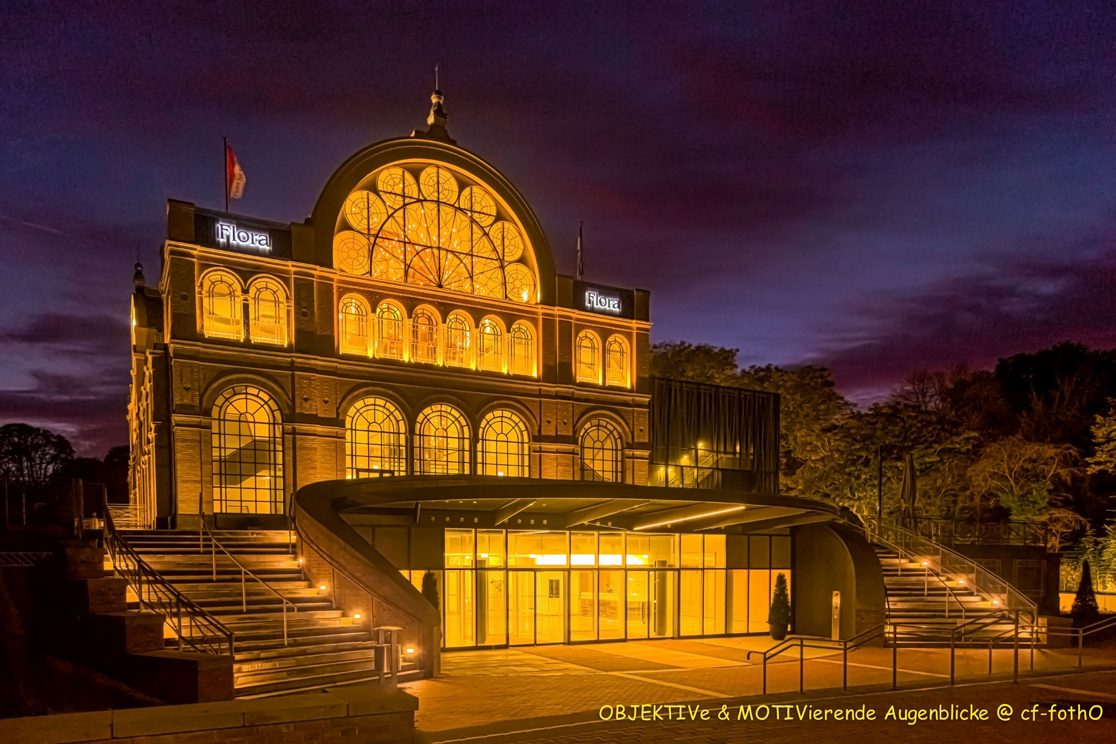
MULTIPOLYGON (((600 725, 599 711, 605 705, 703 702, 706 707, 719 708, 733 702, 739 705, 740 698, 753 696, 753 703, 787 698, 801 704, 804 699, 847 699, 848 695, 891 689, 891 649, 860 648, 849 654, 847 694, 841 692, 840 654, 806 649, 801 674, 807 695, 798 693, 799 660, 795 650, 769 663, 768 695, 760 698, 762 666, 757 657, 749 660, 745 656, 772 642, 769 638, 745 637, 452 651, 442 656, 442 677, 411 683, 406 688, 420 698, 415 716, 420 742, 460 740, 480 744, 493 734, 507 737, 508 732, 538 729, 539 735, 557 735, 565 727, 600 725)), ((987 649, 959 650, 958 684, 1010 680, 1011 649, 993 651, 991 677, 988 660, 987 649)), ((1031 673, 1029 649, 1020 650, 1020 674, 1031 683, 1032 675, 1072 671, 1076 663, 1076 650, 1038 649, 1031 673)), ((1116 649, 1087 649, 1086 667, 1116 669, 1116 649)), ((903 695, 904 704, 905 695, 913 690, 947 689, 949 649, 901 648, 897 676, 899 687, 907 692, 888 694, 903 695)), ((1107 684, 1116 688, 1116 674, 1107 684)), ((1116 732, 1116 726, 1113 729, 1116 732)), ((508 741, 517 735, 511 736, 508 741)), ((689 741, 687 736, 682 738, 689 741)), ((654 736, 647 741, 652 740, 654 736)), ((523 741, 533 740, 528 736, 523 741)))

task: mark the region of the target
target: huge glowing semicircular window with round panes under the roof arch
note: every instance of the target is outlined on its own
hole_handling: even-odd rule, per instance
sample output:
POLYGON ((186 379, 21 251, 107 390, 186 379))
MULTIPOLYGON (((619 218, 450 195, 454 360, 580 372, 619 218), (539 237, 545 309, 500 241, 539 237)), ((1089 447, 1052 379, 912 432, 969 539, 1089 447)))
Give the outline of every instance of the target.
POLYGON ((345 200, 334 265, 375 279, 536 302, 533 254, 492 191, 440 164, 389 165, 345 200))

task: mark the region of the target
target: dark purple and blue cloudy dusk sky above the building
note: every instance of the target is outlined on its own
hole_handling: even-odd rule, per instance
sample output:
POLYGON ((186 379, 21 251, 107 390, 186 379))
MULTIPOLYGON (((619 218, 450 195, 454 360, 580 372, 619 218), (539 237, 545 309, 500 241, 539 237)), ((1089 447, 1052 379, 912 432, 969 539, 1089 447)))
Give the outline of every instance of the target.
POLYGON ((653 340, 916 368, 1116 347, 1106 2, 81 3, 0 8, 0 424, 124 444, 137 252, 167 197, 305 219, 373 142, 449 129, 557 269, 652 292, 653 340))

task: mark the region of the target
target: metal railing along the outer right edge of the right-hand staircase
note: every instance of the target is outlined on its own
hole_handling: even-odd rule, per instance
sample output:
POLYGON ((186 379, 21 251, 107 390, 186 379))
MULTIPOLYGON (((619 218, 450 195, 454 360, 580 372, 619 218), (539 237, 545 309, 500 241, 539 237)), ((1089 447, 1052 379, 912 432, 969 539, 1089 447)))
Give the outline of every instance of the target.
POLYGON ((973 591, 989 598, 992 605, 998 606, 997 609, 1023 610, 1030 615, 1032 624, 1038 617, 1038 606, 1030 598, 971 558, 897 524, 869 519, 863 529, 869 541, 886 542, 885 547, 902 548, 916 560, 927 559, 936 563, 934 570, 939 573, 965 577, 973 591), (875 529, 873 523, 876 523, 875 529))

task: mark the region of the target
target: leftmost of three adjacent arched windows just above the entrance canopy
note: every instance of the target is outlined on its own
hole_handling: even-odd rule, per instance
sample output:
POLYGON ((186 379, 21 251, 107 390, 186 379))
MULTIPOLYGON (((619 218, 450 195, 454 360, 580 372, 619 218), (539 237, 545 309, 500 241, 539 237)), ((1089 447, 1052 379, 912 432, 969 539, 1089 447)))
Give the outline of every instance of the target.
POLYGON ((384 398, 362 398, 345 416, 347 477, 406 475, 406 426, 384 398))

